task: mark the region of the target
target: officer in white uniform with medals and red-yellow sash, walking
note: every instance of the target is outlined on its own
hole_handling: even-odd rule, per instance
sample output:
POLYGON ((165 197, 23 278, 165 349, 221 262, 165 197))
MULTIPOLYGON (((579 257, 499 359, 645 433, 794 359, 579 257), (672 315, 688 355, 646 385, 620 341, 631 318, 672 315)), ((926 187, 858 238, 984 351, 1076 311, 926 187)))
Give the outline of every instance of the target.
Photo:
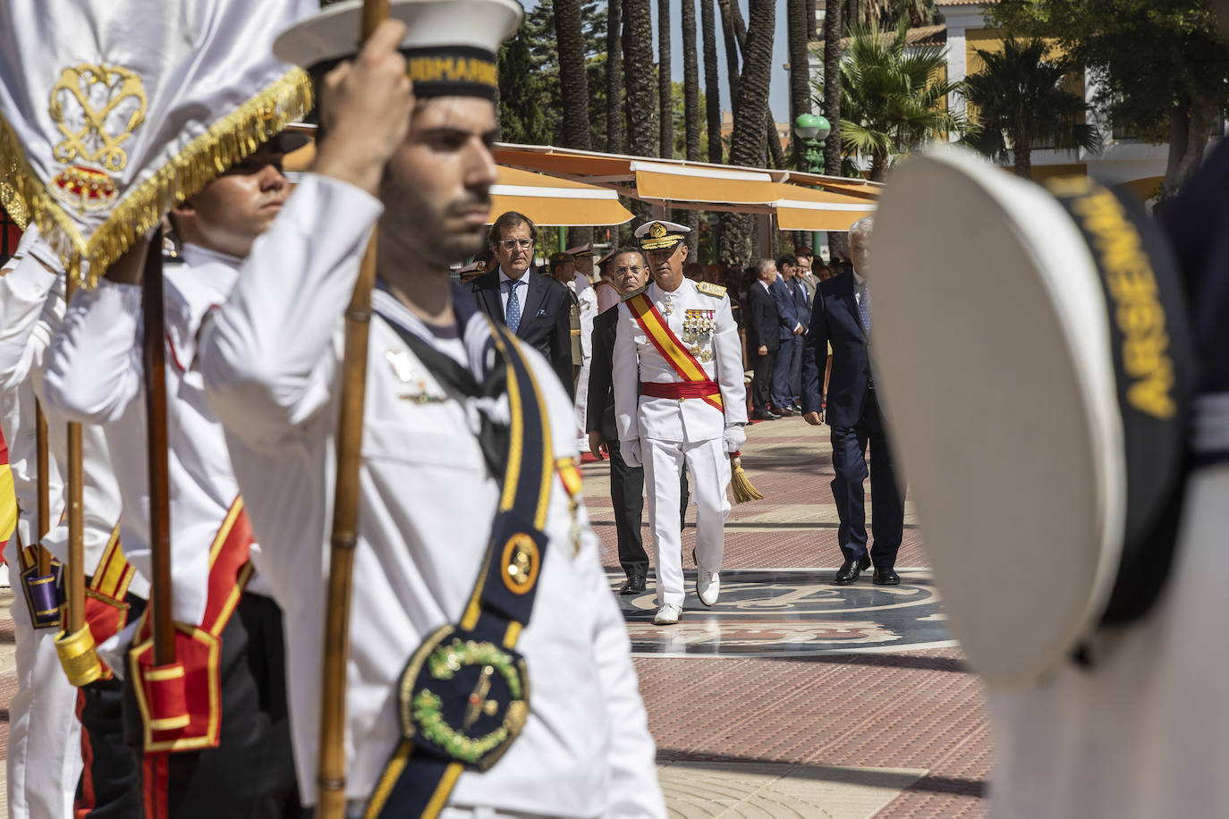
POLYGON ((658 567, 654 623, 683 608, 678 474, 691 473, 696 502, 696 593, 713 605, 730 512, 729 456, 746 442, 742 346, 725 287, 682 275, 683 225, 637 228, 653 282, 623 297, 614 341, 614 414, 623 459, 644 465, 658 567))

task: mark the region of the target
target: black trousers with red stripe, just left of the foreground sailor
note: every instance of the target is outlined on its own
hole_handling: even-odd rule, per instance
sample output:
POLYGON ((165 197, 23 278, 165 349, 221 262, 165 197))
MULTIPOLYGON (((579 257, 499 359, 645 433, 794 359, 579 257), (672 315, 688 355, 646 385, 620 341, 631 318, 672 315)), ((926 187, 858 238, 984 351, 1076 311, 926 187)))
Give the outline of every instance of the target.
POLYGON ((302 817, 290 753, 281 609, 261 594, 245 593, 222 630, 221 708, 216 748, 146 755, 133 681, 124 681, 128 744, 141 765, 143 815, 302 817))

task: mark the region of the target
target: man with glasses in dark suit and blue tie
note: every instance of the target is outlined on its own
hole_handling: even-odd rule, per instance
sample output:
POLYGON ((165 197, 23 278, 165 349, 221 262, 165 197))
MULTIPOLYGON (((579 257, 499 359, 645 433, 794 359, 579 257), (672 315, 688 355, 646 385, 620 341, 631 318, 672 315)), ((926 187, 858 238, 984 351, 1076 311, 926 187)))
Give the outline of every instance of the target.
POLYGON ((571 377, 571 295, 549 276, 531 273, 537 227, 508 211, 490 226, 488 243, 498 266, 473 280, 478 306, 546 356, 569 395, 571 377))

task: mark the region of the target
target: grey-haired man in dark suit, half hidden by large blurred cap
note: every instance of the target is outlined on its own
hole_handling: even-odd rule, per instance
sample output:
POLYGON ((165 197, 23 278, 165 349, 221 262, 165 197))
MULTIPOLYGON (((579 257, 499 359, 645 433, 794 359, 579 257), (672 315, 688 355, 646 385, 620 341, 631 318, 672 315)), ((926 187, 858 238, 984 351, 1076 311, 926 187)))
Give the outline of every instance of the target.
POLYGON ((803 411, 807 424, 827 420, 832 427, 832 499, 841 527, 837 540, 844 562, 837 586, 858 580, 871 562, 874 582, 901 582, 893 566, 905 528, 905 496, 896 483, 892 453, 884 433, 875 383, 870 371, 868 338, 871 328, 870 232, 874 217, 859 219, 849 227, 853 274, 820 284, 811 311, 811 327, 803 347, 803 411), (827 410, 823 408, 823 365, 832 345, 832 375, 828 377, 827 410), (825 417, 825 415, 827 417, 825 417), (870 491, 875 507, 871 530, 874 553, 866 546, 866 447, 870 446, 870 491))

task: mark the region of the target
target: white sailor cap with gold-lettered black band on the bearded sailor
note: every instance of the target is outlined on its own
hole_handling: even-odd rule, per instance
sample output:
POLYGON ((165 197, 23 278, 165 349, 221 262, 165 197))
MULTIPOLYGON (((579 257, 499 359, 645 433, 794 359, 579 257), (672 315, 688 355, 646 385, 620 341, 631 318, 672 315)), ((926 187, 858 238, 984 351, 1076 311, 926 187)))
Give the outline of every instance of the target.
MULTIPOLYGON (((291 26, 273 43, 278 59, 322 74, 359 49, 363 0, 345 0, 291 26)), ((406 23, 401 52, 414 96, 477 96, 499 88, 495 52, 521 25, 516 0, 390 0, 388 17, 406 23)))

